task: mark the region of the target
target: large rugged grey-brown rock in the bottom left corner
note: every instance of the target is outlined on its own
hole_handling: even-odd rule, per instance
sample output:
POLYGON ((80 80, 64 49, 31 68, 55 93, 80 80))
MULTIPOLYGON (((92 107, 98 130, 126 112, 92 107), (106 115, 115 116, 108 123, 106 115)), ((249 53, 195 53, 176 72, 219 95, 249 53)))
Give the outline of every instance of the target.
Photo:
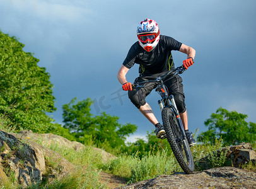
POLYGON ((4 170, 12 171, 19 183, 28 186, 42 180, 42 173, 45 171, 44 161, 42 160, 42 152, 35 151, 27 144, 23 144, 11 134, 0 131, 0 146, 4 148, 0 152, 1 167, 4 170))

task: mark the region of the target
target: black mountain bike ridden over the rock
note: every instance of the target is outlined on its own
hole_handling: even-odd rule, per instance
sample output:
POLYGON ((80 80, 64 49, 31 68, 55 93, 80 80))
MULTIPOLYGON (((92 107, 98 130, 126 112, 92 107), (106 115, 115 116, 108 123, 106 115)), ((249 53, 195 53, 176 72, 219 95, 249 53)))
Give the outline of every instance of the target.
MULTIPOLYGON (((156 91, 160 94, 161 100, 158 100, 158 104, 161 109, 161 117, 163 120, 163 127, 165 128, 166 138, 172 148, 178 164, 187 174, 191 174, 194 171, 194 160, 187 141, 185 130, 183 128, 182 120, 174 100, 173 95, 168 95, 164 79, 167 76, 174 77, 177 74, 182 74, 185 71, 185 67, 180 66, 172 71, 167 72, 162 77, 157 77, 153 80, 142 81, 134 83, 133 88, 143 88, 145 83, 156 83, 156 91)), ((170 79, 172 78, 170 77, 170 79)), ((169 78, 168 78, 169 79, 169 78)))

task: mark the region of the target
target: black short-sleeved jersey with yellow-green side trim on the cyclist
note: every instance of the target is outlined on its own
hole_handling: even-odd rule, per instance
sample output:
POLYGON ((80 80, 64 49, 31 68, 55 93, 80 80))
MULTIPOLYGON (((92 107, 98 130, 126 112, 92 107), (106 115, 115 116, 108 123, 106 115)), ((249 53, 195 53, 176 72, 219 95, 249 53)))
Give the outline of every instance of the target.
POLYGON ((172 50, 180 50, 182 43, 172 37, 160 35, 158 45, 150 52, 136 42, 129 50, 123 65, 131 68, 139 64, 141 76, 151 76, 174 69, 172 50))

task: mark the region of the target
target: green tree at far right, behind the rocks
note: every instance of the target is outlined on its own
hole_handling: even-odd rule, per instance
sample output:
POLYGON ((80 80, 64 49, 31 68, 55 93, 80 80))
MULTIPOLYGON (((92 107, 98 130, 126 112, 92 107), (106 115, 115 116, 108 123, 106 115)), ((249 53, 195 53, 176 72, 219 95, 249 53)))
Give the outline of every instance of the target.
POLYGON ((226 145, 253 143, 256 140, 256 123, 248 123, 245 121, 246 118, 245 114, 229 112, 220 107, 204 122, 209 129, 202 132, 199 137, 212 143, 215 139, 222 138, 226 145))

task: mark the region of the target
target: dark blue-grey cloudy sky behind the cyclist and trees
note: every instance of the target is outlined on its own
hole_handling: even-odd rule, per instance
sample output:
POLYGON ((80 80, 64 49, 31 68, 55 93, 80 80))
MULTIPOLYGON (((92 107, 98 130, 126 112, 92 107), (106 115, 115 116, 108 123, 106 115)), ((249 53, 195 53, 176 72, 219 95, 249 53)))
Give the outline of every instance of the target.
MULTIPOLYGON (((116 75, 145 18, 156 20, 162 35, 196 50, 194 66, 182 74, 192 132, 206 131, 204 121, 220 106, 256 122, 255 8, 255 0, 1 0, 0 30, 25 44, 23 50, 50 73, 56 122, 62 123, 62 105, 72 98, 91 98, 91 113, 104 111, 139 126, 129 138, 134 141, 153 125, 116 75)), ((180 66, 186 55, 173 52, 173 58, 180 66)), ((128 81, 137 71, 132 67, 128 81)), ((147 101, 160 119, 158 98, 153 91, 147 101)))

